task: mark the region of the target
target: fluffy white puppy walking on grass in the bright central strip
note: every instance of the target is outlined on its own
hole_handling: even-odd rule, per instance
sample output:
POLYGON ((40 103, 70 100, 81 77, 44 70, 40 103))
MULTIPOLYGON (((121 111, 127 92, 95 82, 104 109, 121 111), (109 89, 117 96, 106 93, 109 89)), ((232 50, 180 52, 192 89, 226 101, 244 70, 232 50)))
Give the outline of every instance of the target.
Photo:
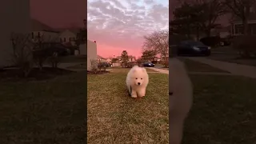
POLYGON ((127 74, 126 86, 132 98, 144 97, 148 83, 149 75, 143 67, 134 66, 127 74))

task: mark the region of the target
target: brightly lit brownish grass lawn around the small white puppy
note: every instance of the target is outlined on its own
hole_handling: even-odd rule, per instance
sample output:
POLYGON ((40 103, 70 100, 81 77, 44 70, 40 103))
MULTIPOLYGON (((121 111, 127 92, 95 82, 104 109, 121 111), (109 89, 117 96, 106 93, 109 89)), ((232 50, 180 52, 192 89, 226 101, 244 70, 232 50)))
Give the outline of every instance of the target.
POLYGON ((129 69, 88 75, 88 143, 168 143, 168 75, 152 73, 144 98, 130 98, 129 69))

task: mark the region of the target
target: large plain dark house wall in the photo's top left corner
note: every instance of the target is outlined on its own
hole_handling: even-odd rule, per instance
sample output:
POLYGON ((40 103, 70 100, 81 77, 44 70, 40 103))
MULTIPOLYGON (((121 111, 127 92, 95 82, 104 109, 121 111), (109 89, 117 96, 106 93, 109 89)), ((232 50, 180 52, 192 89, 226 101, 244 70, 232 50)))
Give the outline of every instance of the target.
POLYGON ((0 5, 0 68, 12 66, 13 48, 11 34, 27 34, 30 32, 30 1, 8 0, 0 5))

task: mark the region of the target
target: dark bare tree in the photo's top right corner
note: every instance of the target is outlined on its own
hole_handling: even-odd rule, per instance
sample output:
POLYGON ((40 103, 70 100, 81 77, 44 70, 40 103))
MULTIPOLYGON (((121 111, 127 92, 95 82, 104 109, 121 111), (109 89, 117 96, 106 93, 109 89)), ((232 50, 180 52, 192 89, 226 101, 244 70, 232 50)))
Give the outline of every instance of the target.
POLYGON ((254 6, 256 0, 224 0, 223 2, 234 16, 241 18, 243 25, 243 33, 248 34, 248 18, 250 16, 250 8, 254 6))

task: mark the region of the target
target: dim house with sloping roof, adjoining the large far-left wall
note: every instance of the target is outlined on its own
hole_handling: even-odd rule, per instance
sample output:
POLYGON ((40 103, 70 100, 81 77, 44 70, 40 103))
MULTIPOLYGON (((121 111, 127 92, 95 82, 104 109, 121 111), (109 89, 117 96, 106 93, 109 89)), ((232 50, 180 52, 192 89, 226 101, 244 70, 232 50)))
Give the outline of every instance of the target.
POLYGON ((31 18, 31 31, 32 39, 42 38, 44 42, 59 42, 59 32, 57 30, 54 30, 50 26, 47 26, 34 18, 31 18))

